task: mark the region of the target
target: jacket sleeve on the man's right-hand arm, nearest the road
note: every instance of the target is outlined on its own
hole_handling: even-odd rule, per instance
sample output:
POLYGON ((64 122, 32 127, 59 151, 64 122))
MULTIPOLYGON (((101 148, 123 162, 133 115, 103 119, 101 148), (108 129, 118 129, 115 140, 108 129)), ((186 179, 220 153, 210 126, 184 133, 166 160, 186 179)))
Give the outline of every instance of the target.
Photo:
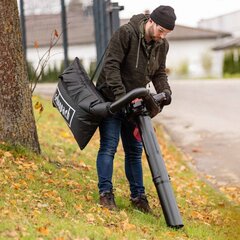
POLYGON ((156 71, 155 75, 152 78, 152 83, 153 83, 154 88, 157 93, 166 92, 171 95, 172 91, 168 84, 168 76, 166 73, 166 57, 167 57, 168 49, 169 49, 168 42, 165 41, 164 59, 161 60, 161 64, 160 64, 158 70, 156 71))

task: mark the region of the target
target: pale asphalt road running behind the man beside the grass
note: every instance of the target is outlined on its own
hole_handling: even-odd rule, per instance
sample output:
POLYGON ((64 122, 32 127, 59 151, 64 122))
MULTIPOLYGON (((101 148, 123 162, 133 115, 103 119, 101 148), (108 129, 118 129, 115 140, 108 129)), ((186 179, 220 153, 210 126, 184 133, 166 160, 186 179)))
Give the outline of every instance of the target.
MULTIPOLYGON (((169 81, 173 100, 154 118, 193 166, 218 185, 240 183, 240 79, 169 81)), ((35 94, 51 97, 56 84, 35 94)))

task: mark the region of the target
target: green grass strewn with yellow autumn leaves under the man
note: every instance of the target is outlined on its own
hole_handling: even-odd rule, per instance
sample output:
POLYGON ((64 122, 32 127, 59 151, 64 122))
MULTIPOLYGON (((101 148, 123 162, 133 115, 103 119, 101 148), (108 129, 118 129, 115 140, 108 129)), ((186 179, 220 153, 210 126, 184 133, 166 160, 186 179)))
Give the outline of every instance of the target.
POLYGON ((66 123, 51 106, 40 101, 35 110, 42 154, 0 143, 0 239, 237 239, 240 211, 187 165, 186 157, 169 142, 161 127, 156 133, 184 228, 166 226, 146 158, 144 182, 154 214, 130 206, 124 174, 123 150, 118 148, 113 183, 119 210, 98 205, 95 159, 98 132, 80 151, 66 123))

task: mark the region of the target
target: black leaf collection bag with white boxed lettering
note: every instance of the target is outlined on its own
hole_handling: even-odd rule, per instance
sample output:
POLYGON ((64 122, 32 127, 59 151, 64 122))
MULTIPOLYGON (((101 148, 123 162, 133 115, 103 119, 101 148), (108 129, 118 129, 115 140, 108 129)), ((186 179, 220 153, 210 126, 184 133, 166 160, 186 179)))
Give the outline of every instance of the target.
POLYGON ((77 57, 59 76, 52 104, 66 121, 81 150, 106 117, 109 105, 77 57))

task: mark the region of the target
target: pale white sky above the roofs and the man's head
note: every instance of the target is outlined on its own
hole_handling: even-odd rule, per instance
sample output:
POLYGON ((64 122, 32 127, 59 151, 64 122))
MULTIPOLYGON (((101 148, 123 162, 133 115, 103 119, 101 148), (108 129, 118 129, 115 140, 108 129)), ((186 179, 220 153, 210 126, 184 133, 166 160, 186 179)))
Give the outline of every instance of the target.
POLYGON ((217 17, 240 11, 239 0, 112 0, 124 6, 121 18, 130 18, 134 14, 148 9, 150 12, 160 5, 169 5, 175 9, 176 24, 196 27, 201 19, 217 17))

